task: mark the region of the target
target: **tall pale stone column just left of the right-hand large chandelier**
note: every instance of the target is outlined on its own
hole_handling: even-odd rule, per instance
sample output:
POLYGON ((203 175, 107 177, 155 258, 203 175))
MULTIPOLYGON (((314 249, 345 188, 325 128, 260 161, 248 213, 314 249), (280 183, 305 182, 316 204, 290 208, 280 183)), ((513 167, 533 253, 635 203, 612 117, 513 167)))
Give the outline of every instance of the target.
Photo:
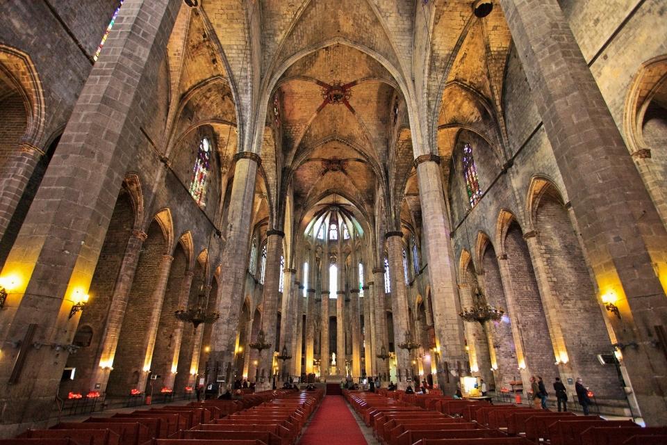
POLYGON ((424 236, 431 284, 431 303, 436 331, 438 358, 438 385, 443 394, 454 394, 458 379, 443 375, 443 369, 452 369, 456 362, 465 361, 463 326, 454 289, 454 257, 450 242, 450 223, 443 197, 440 157, 427 154, 415 159, 419 197, 422 207, 424 236), (447 363, 447 366, 443 362, 447 363))

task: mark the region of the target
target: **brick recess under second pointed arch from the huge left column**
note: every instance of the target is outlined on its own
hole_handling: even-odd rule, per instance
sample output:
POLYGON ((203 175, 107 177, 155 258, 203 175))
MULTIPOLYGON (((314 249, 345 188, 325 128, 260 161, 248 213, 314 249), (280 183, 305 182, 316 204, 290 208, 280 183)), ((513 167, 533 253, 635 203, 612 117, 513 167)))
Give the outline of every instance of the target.
MULTIPOLYGON (((115 396, 129 394, 130 389, 138 384, 143 372, 146 337, 139 333, 145 333, 148 329, 157 281, 155 271, 165 254, 165 238, 158 223, 151 223, 147 234, 120 330, 113 371, 109 375, 107 393, 115 396)), ((137 389, 143 391, 145 388, 137 389)))

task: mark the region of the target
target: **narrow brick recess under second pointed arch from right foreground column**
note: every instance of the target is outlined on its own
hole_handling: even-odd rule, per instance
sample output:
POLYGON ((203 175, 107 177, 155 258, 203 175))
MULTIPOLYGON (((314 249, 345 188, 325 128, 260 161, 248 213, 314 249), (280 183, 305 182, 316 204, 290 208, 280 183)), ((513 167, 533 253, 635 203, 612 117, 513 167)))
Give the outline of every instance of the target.
POLYGON ((511 283, 516 305, 509 310, 516 311, 518 314, 527 371, 531 375, 541 375, 545 382, 552 382, 558 375, 554 366, 554 349, 547 330, 547 321, 528 246, 516 223, 513 223, 507 231, 505 252, 507 252, 507 262, 511 270, 511 283))

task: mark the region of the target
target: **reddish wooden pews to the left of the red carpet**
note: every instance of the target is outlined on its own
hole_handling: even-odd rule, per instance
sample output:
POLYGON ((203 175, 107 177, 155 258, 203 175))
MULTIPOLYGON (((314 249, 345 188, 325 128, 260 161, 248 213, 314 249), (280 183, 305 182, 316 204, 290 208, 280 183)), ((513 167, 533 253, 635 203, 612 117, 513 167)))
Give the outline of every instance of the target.
POLYGON ((293 445, 323 396, 281 390, 166 405, 26 430, 0 445, 293 445))

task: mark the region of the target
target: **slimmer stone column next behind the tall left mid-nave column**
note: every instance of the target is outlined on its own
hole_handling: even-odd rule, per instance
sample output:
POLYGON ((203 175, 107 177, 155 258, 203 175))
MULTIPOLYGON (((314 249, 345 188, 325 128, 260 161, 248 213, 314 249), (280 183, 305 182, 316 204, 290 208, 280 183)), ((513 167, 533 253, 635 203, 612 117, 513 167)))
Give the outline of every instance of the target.
POLYGON ((276 332, 276 323, 278 317, 278 284, 280 274, 283 270, 280 267, 280 257, 283 252, 283 238, 285 234, 280 230, 269 229, 266 231, 266 270, 264 273, 264 289, 263 289, 263 312, 262 312, 262 326, 266 334, 267 343, 271 343, 271 347, 263 350, 259 355, 259 377, 264 376, 264 382, 257 384, 257 391, 265 391, 272 389, 272 375, 273 375, 273 360, 274 350, 280 349, 280 345, 276 344, 278 337, 276 332))

